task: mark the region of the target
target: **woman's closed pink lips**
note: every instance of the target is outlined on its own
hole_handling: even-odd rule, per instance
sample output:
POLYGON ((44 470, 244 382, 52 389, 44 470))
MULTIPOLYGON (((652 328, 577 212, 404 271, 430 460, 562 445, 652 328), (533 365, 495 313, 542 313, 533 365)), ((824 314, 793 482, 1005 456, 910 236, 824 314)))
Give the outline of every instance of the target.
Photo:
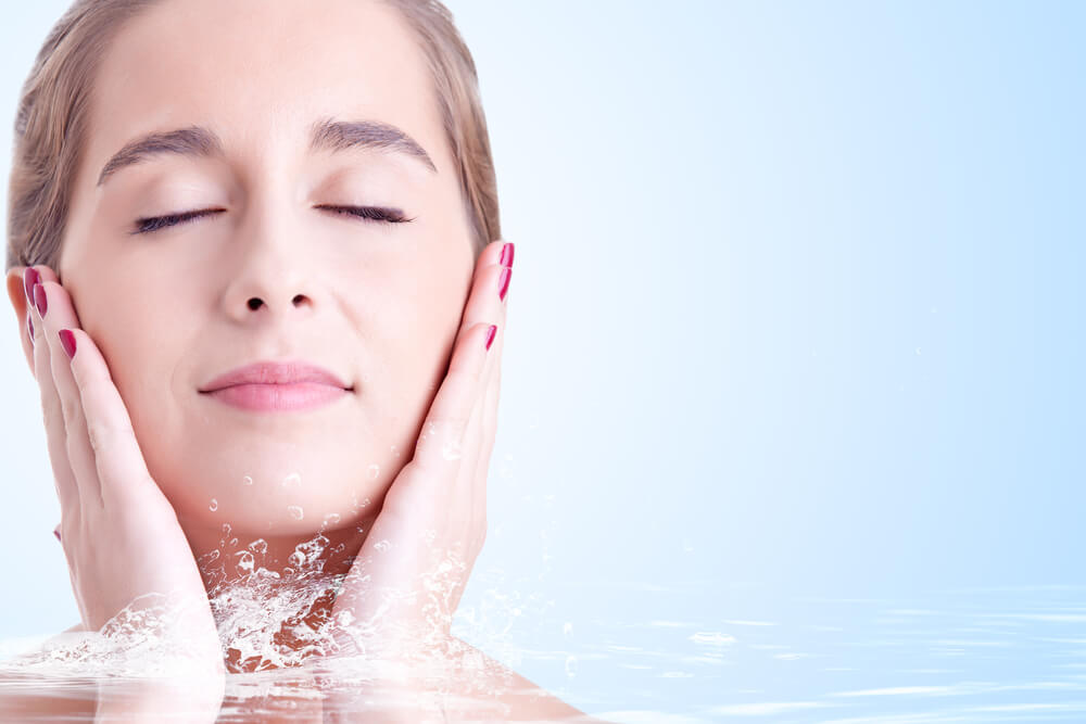
POLYGON ((260 361, 215 378, 200 392, 245 410, 286 411, 327 405, 353 390, 323 367, 260 361))

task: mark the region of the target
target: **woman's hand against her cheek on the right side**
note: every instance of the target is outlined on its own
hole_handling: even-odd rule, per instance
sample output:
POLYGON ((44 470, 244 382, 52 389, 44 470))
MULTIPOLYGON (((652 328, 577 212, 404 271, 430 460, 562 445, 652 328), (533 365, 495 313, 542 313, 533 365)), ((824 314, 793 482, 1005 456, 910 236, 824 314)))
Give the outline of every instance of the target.
POLYGON ((414 458, 389 488, 336 598, 333 620, 346 626, 337 637, 351 652, 396 659, 449 639, 487 535, 512 264, 513 244, 501 241, 479 256, 449 372, 414 458))

